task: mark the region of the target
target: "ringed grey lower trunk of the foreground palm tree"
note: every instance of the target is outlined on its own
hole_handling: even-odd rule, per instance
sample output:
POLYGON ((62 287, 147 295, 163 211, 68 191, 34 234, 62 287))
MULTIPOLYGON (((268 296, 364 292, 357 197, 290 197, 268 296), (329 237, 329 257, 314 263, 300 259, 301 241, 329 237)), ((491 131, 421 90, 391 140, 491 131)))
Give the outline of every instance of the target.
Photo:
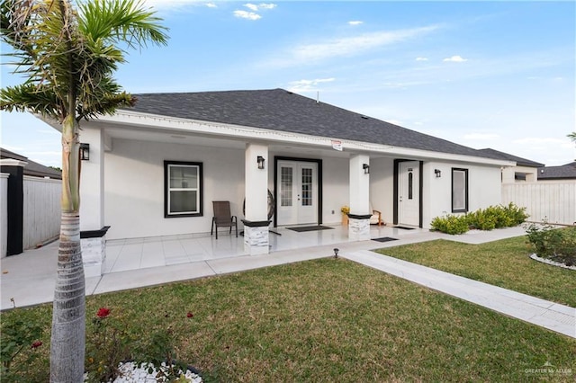
POLYGON ((85 358, 85 279, 80 216, 62 212, 54 289, 50 382, 82 382, 85 358))

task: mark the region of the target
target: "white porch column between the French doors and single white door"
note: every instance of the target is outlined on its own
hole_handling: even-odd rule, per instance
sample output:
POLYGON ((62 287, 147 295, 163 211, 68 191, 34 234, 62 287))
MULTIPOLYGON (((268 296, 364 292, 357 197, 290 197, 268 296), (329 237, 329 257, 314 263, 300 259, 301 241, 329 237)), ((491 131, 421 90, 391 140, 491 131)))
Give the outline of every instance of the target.
POLYGON ((355 241, 370 239, 370 156, 350 157, 350 213, 348 237, 355 241))

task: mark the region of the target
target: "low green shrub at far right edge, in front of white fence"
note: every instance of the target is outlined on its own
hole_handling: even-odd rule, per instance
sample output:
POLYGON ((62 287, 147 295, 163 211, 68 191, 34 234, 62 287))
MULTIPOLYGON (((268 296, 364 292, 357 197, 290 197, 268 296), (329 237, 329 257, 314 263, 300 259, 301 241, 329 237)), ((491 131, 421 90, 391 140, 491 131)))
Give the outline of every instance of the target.
POLYGON ((547 222, 527 228, 536 255, 567 266, 576 264, 576 227, 554 228, 547 222))

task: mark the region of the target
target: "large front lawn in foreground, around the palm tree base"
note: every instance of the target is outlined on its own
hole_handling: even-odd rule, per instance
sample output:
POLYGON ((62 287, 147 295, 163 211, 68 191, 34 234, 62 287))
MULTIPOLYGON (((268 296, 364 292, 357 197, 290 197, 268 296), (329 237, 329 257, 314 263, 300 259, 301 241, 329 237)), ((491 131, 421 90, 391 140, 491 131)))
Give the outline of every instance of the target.
MULTIPOLYGON (((525 381, 546 362, 574 371, 546 379, 576 373, 575 339, 344 259, 89 297, 88 333, 99 307, 141 340, 169 331, 207 381, 525 381)), ((50 316, 50 305, 2 313, 3 328, 45 328, 21 381, 47 380, 50 316)))

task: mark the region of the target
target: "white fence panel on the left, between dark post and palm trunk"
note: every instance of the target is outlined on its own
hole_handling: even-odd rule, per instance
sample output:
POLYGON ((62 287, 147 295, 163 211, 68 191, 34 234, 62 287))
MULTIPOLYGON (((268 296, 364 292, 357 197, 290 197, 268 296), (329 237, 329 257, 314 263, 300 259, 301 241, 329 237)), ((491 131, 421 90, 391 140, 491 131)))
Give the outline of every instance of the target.
POLYGON ((62 181, 23 178, 23 248, 28 249, 58 236, 62 181))

